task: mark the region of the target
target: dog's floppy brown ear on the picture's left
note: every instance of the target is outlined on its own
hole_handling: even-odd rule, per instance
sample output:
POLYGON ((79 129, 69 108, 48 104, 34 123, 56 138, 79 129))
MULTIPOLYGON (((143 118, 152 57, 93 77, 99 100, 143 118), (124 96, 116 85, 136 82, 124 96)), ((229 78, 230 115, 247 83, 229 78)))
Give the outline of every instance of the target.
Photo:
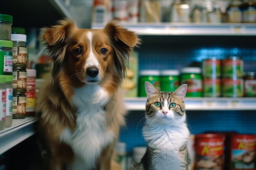
POLYGON ((68 19, 59 20, 57 25, 41 29, 39 38, 47 47, 47 56, 52 58, 53 77, 63 66, 67 42, 76 29, 74 21, 68 19))

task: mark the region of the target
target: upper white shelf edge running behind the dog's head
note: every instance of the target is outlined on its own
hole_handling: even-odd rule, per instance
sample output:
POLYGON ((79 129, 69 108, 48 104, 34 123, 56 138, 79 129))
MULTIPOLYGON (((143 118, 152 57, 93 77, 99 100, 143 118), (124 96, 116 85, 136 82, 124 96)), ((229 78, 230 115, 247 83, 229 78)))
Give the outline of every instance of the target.
MULTIPOLYGON (((256 23, 121 23, 139 35, 256 35, 256 23)), ((92 23, 92 29, 105 24, 92 23)))

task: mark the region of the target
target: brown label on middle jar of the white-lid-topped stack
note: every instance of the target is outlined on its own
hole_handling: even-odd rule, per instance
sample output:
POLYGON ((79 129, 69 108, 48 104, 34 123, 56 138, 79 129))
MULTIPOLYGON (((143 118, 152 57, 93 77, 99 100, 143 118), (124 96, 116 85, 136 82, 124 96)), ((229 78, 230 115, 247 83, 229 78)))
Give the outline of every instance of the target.
POLYGON ((27 89, 26 71, 13 71, 13 88, 27 89))

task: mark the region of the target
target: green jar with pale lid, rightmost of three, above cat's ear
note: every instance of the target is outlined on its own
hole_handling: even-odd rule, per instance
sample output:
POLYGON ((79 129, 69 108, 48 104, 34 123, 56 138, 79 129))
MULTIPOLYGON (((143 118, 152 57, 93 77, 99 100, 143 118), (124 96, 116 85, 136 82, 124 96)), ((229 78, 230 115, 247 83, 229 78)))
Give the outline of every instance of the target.
POLYGON ((184 67, 181 70, 181 84, 187 84, 186 97, 202 97, 202 75, 200 67, 184 67))

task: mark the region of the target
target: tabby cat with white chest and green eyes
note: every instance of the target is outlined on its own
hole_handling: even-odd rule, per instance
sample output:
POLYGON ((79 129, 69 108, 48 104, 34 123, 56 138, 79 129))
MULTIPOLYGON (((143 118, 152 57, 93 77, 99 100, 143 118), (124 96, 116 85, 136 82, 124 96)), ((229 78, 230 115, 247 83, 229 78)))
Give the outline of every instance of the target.
POLYGON ((187 85, 174 92, 157 91, 145 82, 146 121, 142 129, 147 149, 141 162, 132 162, 130 170, 190 170, 186 147, 189 129, 186 124, 184 97, 187 85))

